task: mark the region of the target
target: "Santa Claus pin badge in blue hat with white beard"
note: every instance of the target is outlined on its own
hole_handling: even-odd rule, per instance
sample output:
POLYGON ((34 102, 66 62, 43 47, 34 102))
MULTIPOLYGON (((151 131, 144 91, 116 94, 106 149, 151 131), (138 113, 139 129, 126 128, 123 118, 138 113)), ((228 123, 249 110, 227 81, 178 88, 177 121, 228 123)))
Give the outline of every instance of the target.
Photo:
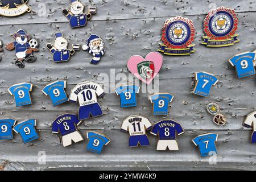
POLYGON ((92 64, 98 64, 101 57, 105 54, 104 42, 100 36, 95 34, 89 36, 87 43, 82 45, 82 49, 88 51, 93 56, 93 59, 90 60, 92 64))

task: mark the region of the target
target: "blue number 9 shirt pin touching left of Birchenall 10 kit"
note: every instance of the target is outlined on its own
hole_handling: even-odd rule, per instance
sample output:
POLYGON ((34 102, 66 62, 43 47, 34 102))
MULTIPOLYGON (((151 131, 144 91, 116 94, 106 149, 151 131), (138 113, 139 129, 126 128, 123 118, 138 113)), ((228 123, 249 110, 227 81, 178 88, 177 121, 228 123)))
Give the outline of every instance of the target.
POLYGON ((65 93, 66 81, 57 80, 51 84, 46 85, 42 92, 51 98, 52 105, 57 106, 68 101, 67 94, 65 93))

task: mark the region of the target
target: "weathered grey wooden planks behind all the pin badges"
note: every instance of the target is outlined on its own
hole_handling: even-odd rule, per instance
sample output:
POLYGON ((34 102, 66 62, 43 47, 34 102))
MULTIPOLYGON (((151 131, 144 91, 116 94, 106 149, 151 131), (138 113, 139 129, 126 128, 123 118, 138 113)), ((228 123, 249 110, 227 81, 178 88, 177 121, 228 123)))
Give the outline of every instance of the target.
MULTIPOLYGON (((40 40, 38 60, 26 64, 24 69, 15 67, 14 51, 2 52, 0 63, 0 118, 36 119, 40 140, 23 144, 19 135, 13 140, 2 140, 0 149, 1 169, 5 170, 55 170, 55 169, 141 169, 141 170, 196 170, 196 169, 256 169, 255 145, 250 143, 251 129, 243 128, 245 115, 255 110, 255 76, 238 79, 235 69, 228 64, 229 57, 243 51, 253 51, 256 32, 255 1, 167 1, 167 0, 102 0, 85 1, 85 5, 96 5, 97 14, 92 16, 86 27, 72 29, 61 10, 69 7, 68 0, 30 0, 32 13, 16 18, 1 17, 0 39, 4 43, 19 28, 27 30, 40 40), (43 4, 42 4, 43 3, 43 4), (46 15, 39 16, 40 6, 46 6, 46 15), (207 48, 200 45, 203 33, 203 20, 207 12, 219 6, 236 10, 239 19, 238 38, 241 42, 231 47, 207 48), (102 117, 90 118, 82 123, 79 131, 99 131, 108 135, 112 142, 101 155, 86 151, 84 142, 63 148, 56 134, 51 134, 51 123, 62 113, 77 113, 78 105, 65 103, 53 107, 49 97, 41 92, 49 82, 67 80, 66 92, 77 83, 98 81, 104 74, 128 75, 127 59, 132 55, 146 56, 159 48, 160 30, 166 19, 182 15, 193 20, 196 28, 195 49, 191 56, 164 56, 163 68, 159 74, 160 92, 174 94, 170 115, 167 118, 181 123, 185 133, 180 135, 180 151, 156 151, 156 137, 149 134, 151 145, 128 147, 128 134, 119 131, 124 118, 131 114, 148 116, 151 122, 162 117, 151 114, 148 94, 139 94, 138 106, 129 109, 119 107, 119 98, 109 93, 101 98, 104 110, 102 117), (51 53, 46 49, 53 42, 54 32, 63 31, 72 43, 85 43, 90 34, 98 34, 105 40, 106 55, 100 64, 89 64, 92 58, 84 51, 76 52, 67 63, 53 63, 51 53), (206 71, 218 76, 219 82, 207 98, 191 94, 192 73, 206 71), (9 86, 19 82, 31 82, 32 105, 15 107, 14 99, 7 92, 9 86), (212 123, 212 116, 205 106, 217 102, 221 113, 228 118, 224 127, 212 123), (210 165, 209 158, 201 158, 199 150, 191 139, 196 135, 214 132, 219 134, 217 164, 210 165), (38 164, 38 152, 46 152, 47 162, 38 164)), ((104 82, 104 81, 102 81, 104 82)), ((106 82, 106 81, 105 81, 106 82)), ((113 91, 113 90, 112 90, 113 91)))

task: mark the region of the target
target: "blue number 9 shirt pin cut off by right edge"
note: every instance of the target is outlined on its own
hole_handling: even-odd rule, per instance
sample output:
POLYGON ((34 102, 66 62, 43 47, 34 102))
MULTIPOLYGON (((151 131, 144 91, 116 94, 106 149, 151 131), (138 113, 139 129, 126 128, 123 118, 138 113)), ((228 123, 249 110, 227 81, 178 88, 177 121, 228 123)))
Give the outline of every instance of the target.
POLYGON ((228 60, 232 67, 236 67, 237 77, 243 78, 255 75, 255 52, 242 52, 228 60))

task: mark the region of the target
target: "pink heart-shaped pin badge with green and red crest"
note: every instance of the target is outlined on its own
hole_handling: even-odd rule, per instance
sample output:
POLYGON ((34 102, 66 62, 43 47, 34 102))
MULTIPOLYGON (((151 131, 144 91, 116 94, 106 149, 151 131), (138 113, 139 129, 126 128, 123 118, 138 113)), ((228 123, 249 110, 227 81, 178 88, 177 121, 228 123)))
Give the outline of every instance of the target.
POLYGON ((134 55, 127 62, 129 71, 147 85, 155 78, 162 65, 163 56, 158 52, 150 52, 145 58, 134 55))

